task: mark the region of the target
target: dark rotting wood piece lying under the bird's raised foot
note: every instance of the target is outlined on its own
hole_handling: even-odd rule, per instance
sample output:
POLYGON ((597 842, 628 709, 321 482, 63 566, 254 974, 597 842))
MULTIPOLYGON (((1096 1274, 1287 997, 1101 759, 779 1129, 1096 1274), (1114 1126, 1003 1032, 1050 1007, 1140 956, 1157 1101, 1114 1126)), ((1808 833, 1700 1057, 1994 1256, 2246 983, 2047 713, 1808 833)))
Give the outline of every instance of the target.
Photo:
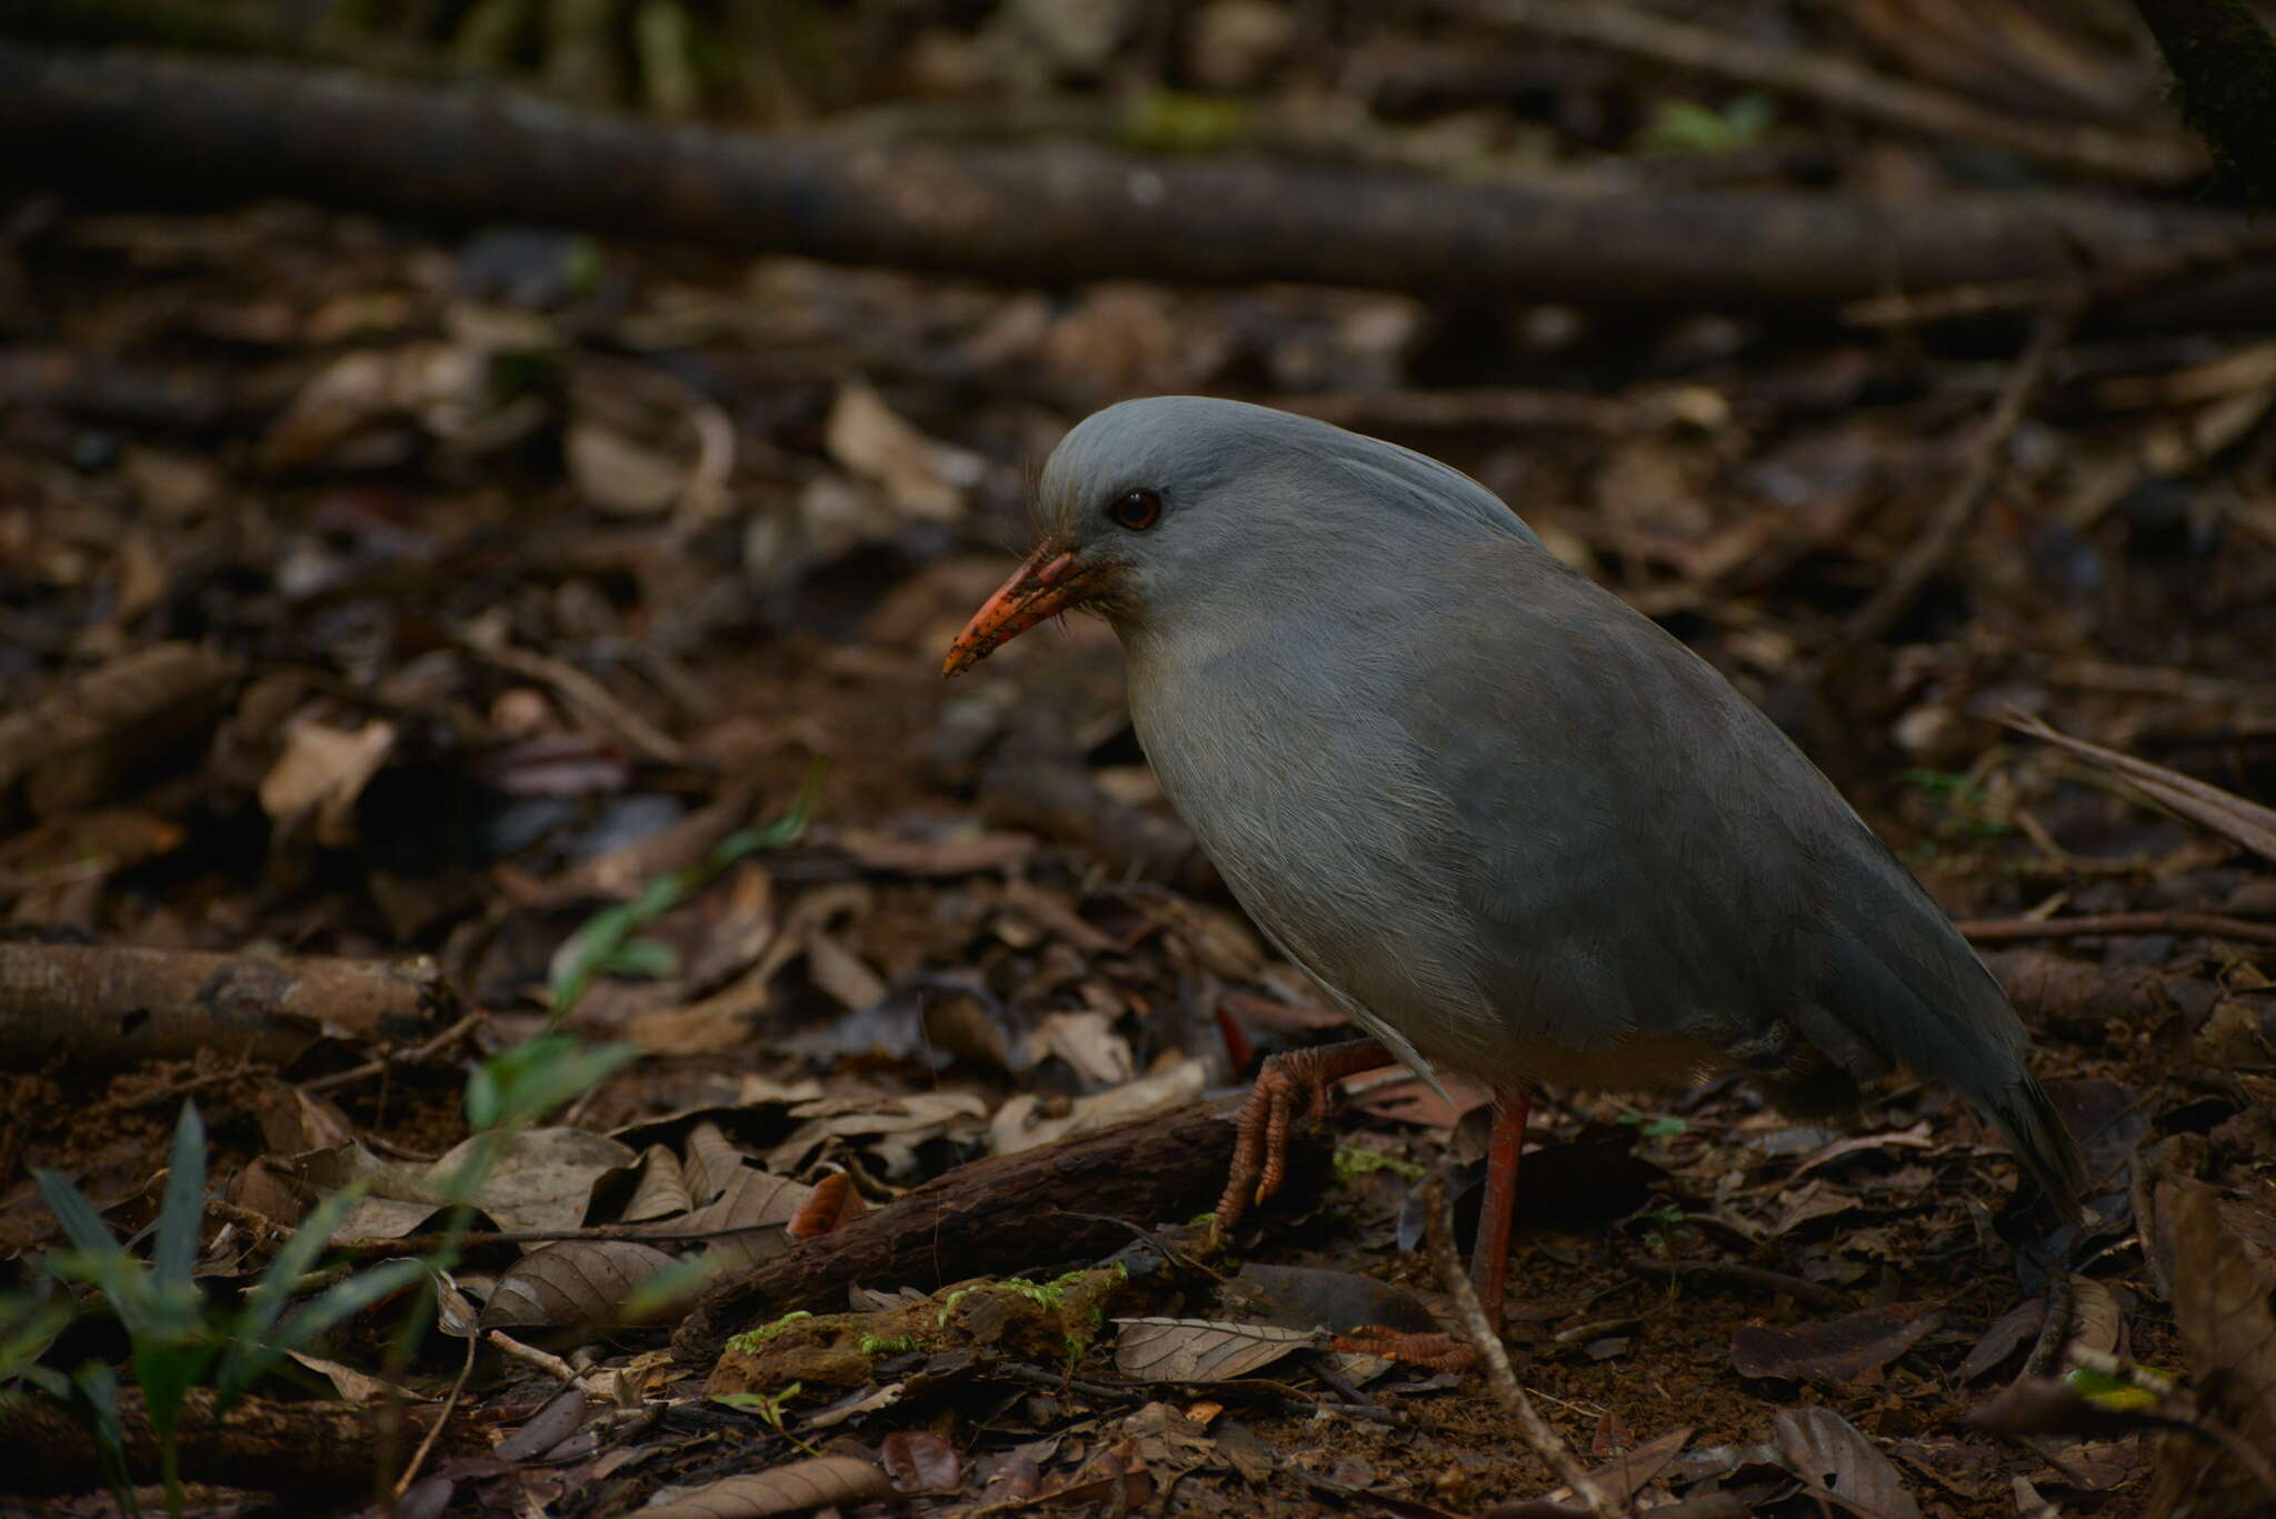
MULTIPOLYGON (((1161 1223, 1206 1209, 1224 1187, 1240 1100, 1181 1107, 933 1177, 844 1227, 715 1284, 674 1335, 692 1362, 792 1309, 842 1309, 847 1287, 935 1289, 963 1278, 1111 1255, 1129 1232, 1104 1218, 1161 1223), (1092 1214, 1092 1218, 1070 1218, 1092 1214)), ((1316 1173, 1320 1146, 1290 1139, 1290 1166, 1316 1173)))

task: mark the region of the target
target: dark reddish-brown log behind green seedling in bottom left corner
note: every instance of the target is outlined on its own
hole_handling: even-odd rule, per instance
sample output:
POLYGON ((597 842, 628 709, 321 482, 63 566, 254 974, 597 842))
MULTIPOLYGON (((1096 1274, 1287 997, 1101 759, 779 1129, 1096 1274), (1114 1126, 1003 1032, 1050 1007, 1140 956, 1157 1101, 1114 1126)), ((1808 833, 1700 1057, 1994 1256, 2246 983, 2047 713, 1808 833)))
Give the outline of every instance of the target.
MULTIPOLYGON (((328 1398, 241 1398, 221 1419, 221 1428, 214 1428, 214 1394, 196 1387, 180 1423, 182 1476, 257 1492, 355 1494, 371 1487, 382 1417, 380 1407, 328 1398)), ((405 1437, 417 1437, 435 1414, 414 1405, 401 1410, 401 1417, 405 1437)), ((118 1421, 127 1471, 139 1483, 155 1483, 157 1437, 139 1387, 118 1391, 118 1421)), ((464 1426, 442 1435, 442 1448, 451 1455, 469 1455, 478 1446, 480 1439, 464 1426)), ((61 1405, 27 1391, 0 1394, 0 1492, 86 1492, 102 1483, 96 1442, 61 1405)))

